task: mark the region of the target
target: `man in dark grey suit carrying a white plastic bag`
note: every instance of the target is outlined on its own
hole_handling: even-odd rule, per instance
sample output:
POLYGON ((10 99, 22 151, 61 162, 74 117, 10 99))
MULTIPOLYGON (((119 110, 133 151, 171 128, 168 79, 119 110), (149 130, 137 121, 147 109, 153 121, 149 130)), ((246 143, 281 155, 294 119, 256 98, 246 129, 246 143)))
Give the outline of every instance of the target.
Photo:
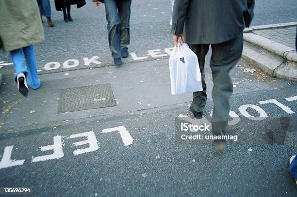
MULTIPOLYGON (((172 13, 172 33, 175 45, 187 43, 198 56, 203 91, 194 92, 191 111, 202 118, 206 104, 204 80, 205 55, 212 47, 210 67, 214 88, 212 128, 215 136, 224 135, 233 91, 229 71, 241 58, 243 29, 253 16, 254 0, 175 0, 172 13)), ((214 147, 225 149, 226 140, 214 140, 214 147)))

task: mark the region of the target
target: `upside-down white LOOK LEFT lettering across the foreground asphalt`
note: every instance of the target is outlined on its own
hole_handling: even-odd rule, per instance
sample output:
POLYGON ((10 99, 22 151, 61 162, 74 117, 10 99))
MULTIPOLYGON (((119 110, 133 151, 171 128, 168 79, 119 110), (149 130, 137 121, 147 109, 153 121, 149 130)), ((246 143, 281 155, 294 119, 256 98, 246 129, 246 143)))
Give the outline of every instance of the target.
MULTIPOLYGON (((297 95, 287 97, 287 98, 285 98, 285 100, 287 100, 289 102, 296 101, 297 100, 297 95)), ((290 107, 285 106, 284 104, 282 104, 281 102, 279 102, 276 99, 258 101, 258 104, 261 105, 261 106, 263 106, 263 105, 275 105, 275 106, 278 106, 279 109, 283 110, 287 114, 294 114, 295 113, 290 107)), ((260 106, 257 106, 257 105, 253 105, 253 104, 241 105, 241 106, 238 107, 238 111, 240 112, 240 114, 242 116, 244 116, 245 118, 247 118, 249 120, 253 120, 253 121, 261 121, 261 120, 264 120, 264 119, 268 118, 268 115, 264 111, 263 108, 261 108, 260 106), (248 112, 249 110, 247 110, 247 109, 253 109, 259 115, 258 116, 253 116, 248 112)), ((212 117, 212 115, 213 115, 213 111, 211 112, 210 117, 212 117)), ((240 117, 239 117, 238 114, 236 114, 235 111, 230 110, 229 116, 232 119, 231 121, 228 121, 229 126, 239 123, 240 117)), ((185 119, 185 121, 191 121, 194 124, 196 124, 197 121, 198 121, 198 119, 192 119, 192 118, 189 118, 188 116, 185 116, 185 115, 182 115, 182 114, 179 115, 178 117, 180 119, 187 118, 187 119, 185 119)), ((203 117, 203 122, 206 123, 207 125, 211 125, 211 123, 207 119, 205 119, 205 117, 203 117)), ((114 133, 114 132, 119 133, 124 146, 132 145, 133 138, 132 138, 132 136, 130 135, 129 131, 127 130, 127 128, 125 126, 118 126, 118 127, 103 129, 100 132, 100 134, 102 134, 102 135, 106 134, 107 135, 107 133, 114 133)), ((53 144, 48 145, 48 146, 39 147, 41 152, 51 151, 52 153, 42 155, 42 156, 32 156, 31 163, 47 161, 47 160, 51 160, 51 159, 60 159, 60 158, 64 157, 64 152, 63 152, 63 141, 64 140, 62 140, 63 137, 66 137, 65 139, 75 139, 75 138, 79 138, 79 137, 85 137, 86 138, 83 141, 78 141, 78 142, 72 143, 73 147, 76 147, 76 146, 84 146, 85 147, 87 145, 87 148, 74 150, 73 155, 79 155, 79 154, 83 154, 83 153, 87 153, 87 152, 94 152, 94 151, 97 151, 99 149, 98 140, 96 138, 96 135, 95 135, 94 131, 73 134, 73 135, 70 135, 70 136, 57 135, 57 136, 53 137, 53 144)), ((14 145, 9 145, 9 146, 6 146, 4 148, 3 156, 2 156, 2 159, 0 161, 0 169, 1 168, 7 168, 7 167, 21 166, 21 165, 24 164, 25 159, 23 159, 23 158, 20 158, 20 159, 17 159, 17 160, 12 159, 13 150, 14 150, 14 145)))

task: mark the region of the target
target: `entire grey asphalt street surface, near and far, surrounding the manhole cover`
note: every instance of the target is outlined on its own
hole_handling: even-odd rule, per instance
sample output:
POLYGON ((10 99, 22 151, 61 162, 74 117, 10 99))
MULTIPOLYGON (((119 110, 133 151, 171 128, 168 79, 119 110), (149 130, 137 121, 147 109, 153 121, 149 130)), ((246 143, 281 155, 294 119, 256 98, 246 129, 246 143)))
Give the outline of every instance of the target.
MULTIPOLYGON (((0 187, 30 187, 33 196, 297 196, 288 171, 289 157, 297 152, 296 82, 253 72, 239 61, 231 71, 231 110, 240 121, 228 130, 239 140, 228 141, 224 152, 210 141, 180 145, 176 117, 193 118, 192 95, 170 95, 165 48, 173 46, 171 1, 133 0, 129 50, 147 58, 129 57, 122 67, 108 66, 113 63, 104 7, 90 0, 80 9, 72 6, 74 21, 65 23, 51 3, 55 27, 44 23, 46 40, 36 45, 40 89, 22 97, 12 66, 0 68, 0 187), (163 56, 152 57, 148 50, 155 49, 160 51, 150 53, 163 56), (83 59, 94 56, 101 63, 85 65, 83 59), (65 68, 66 60, 79 64, 65 68), (60 67, 46 70, 53 61, 60 67), (116 106, 57 113, 61 89, 103 83, 111 84, 116 106), (271 99, 284 106, 259 103, 271 99), (267 118, 249 120, 239 109, 245 105, 261 107, 267 118), (284 119, 291 126, 278 135, 284 119), (105 130, 110 128, 116 129, 105 130)), ((296 9, 294 0, 257 1, 252 25, 296 21, 296 9)), ((207 120, 213 109, 209 58, 207 120)), ((0 51, 0 61, 11 62, 9 54, 0 51)), ((248 107, 247 113, 259 116, 248 107)))

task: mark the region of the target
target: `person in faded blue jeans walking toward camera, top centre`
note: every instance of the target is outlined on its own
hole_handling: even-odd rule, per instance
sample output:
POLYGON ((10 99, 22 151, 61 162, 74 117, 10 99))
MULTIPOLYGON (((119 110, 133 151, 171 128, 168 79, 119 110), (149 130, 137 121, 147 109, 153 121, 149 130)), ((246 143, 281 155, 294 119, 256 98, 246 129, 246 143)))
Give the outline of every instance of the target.
POLYGON ((92 0, 96 6, 105 5, 108 42, 116 65, 122 64, 121 58, 128 58, 130 44, 130 15, 132 0, 92 0))

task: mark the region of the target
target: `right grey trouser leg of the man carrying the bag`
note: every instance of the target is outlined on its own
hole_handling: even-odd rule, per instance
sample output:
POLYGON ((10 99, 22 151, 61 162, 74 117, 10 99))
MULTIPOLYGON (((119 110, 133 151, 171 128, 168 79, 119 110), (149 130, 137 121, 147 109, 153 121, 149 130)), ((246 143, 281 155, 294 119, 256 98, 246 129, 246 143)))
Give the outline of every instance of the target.
POLYGON ((228 122, 230 111, 229 98, 233 92, 229 72, 240 59, 242 49, 243 33, 231 41, 212 45, 210 67, 212 69, 214 82, 212 91, 214 101, 212 127, 214 135, 222 135, 223 129, 228 122))

